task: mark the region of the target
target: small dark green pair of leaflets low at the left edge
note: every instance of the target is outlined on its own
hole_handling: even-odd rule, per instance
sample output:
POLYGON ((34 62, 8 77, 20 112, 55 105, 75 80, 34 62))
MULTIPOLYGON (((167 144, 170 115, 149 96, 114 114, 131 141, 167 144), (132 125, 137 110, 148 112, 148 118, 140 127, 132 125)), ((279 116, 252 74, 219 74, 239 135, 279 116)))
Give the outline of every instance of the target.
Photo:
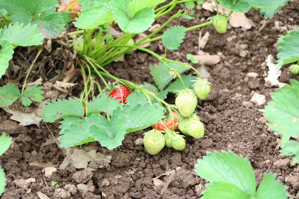
POLYGON ((42 99, 44 99, 42 96, 44 91, 41 89, 42 87, 33 85, 32 87, 26 88, 21 96, 19 88, 15 85, 4 85, 3 87, 0 87, 0 105, 9 106, 19 98, 21 98, 22 104, 24 106, 29 106, 32 101, 42 102, 42 99))

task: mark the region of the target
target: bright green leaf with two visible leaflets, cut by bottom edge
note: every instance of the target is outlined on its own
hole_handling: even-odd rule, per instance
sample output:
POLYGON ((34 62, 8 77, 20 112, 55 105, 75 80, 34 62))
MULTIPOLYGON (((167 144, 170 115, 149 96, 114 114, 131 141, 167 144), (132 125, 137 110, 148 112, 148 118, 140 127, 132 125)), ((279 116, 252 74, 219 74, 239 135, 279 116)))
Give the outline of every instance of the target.
POLYGON ((197 174, 210 181, 202 192, 202 199, 286 199, 285 187, 275 181, 274 174, 264 174, 256 191, 255 176, 246 158, 233 152, 207 152, 195 164, 197 174))

